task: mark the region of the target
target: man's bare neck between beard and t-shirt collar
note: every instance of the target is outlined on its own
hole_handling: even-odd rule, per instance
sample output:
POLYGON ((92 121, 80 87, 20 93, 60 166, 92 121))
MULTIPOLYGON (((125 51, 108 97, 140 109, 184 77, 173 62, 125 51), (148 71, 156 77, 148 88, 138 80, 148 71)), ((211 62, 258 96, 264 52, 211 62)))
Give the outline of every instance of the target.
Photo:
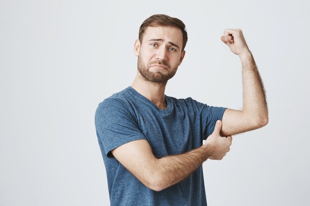
POLYGON ((166 83, 147 81, 143 78, 139 71, 137 71, 136 78, 131 84, 131 87, 153 102, 159 109, 167 109, 167 103, 164 95, 166 83))

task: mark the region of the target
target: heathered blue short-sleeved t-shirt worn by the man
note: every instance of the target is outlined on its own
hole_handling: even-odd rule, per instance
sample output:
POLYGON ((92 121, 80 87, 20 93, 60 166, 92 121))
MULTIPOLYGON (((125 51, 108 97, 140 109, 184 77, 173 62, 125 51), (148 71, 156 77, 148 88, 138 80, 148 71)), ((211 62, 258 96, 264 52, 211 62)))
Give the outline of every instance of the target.
POLYGON ((143 185, 110 152, 138 139, 150 143, 156 158, 188 152, 202 146, 226 109, 190 97, 165 95, 165 99, 167 109, 161 110, 129 86, 99 104, 95 124, 111 206, 207 206, 202 166, 181 182, 156 192, 143 185))

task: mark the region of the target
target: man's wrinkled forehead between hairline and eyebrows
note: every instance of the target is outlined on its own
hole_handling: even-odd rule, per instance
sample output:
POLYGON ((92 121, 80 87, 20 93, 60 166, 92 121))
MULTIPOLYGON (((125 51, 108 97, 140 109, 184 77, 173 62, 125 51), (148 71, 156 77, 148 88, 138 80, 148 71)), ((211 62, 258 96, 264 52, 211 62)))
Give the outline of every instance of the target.
POLYGON ((179 28, 175 27, 148 27, 145 30, 143 41, 149 41, 152 39, 162 39, 164 41, 172 41, 178 45, 182 46, 183 43, 183 34, 179 28))

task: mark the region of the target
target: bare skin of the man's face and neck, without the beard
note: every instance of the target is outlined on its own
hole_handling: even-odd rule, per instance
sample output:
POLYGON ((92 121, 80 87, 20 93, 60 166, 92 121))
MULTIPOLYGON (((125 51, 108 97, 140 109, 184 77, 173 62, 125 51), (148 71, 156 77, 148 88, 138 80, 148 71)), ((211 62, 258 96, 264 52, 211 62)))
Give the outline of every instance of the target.
MULTIPOLYGON (((143 36, 143 41, 135 41, 134 53, 138 56, 138 59, 142 61, 144 66, 147 65, 149 67, 149 72, 154 73, 155 78, 161 78, 162 76, 175 73, 178 66, 182 63, 185 55, 185 51, 181 51, 180 49, 182 48, 182 44, 183 39, 180 29, 173 27, 148 27, 143 36), (162 41, 150 41, 157 39, 161 39, 162 41), (169 42, 172 42, 179 48, 173 46, 169 42), (166 69, 156 66, 151 67, 160 62, 165 62, 167 64, 166 69)), ((131 86, 152 101, 159 109, 165 110, 167 108, 164 98, 166 81, 148 81, 138 70, 136 78, 131 86)))

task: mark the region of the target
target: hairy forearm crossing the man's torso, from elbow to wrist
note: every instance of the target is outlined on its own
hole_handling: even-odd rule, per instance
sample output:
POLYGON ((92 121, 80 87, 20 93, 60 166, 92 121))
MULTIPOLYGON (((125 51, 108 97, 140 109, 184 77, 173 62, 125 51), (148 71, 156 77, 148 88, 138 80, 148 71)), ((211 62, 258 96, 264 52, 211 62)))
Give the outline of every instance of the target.
POLYGON ((210 155, 208 144, 180 155, 167 156, 156 162, 155 190, 160 191, 174 185, 202 165, 210 155))

